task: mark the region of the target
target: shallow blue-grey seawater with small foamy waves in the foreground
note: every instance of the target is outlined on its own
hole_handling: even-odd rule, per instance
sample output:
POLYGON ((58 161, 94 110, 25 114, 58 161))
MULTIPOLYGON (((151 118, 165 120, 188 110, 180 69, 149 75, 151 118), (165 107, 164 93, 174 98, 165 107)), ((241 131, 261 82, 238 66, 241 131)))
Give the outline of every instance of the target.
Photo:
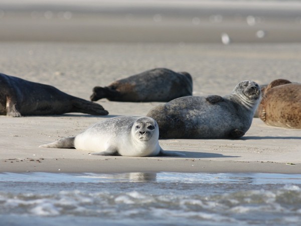
POLYGON ((0 225, 299 225, 301 174, 0 173, 0 225))

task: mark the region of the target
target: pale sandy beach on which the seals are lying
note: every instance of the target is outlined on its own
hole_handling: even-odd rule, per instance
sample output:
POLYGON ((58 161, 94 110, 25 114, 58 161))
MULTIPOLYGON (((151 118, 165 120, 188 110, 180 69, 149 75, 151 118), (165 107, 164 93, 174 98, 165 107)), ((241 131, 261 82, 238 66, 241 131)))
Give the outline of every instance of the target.
MULTIPOLYGON (((297 7, 292 8, 297 9, 297 7)), ((280 9, 281 7, 277 8, 277 10, 280 9)), ((160 28, 164 30, 165 26, 169 26, 180 34, 185 34, 182 36, 176 36, 173 32, 162 35, 159 27, 149 24, 146 31, 152 31, 154 37, 158 37, 155 39, 146 35, 154 40, 151 42, 148 39, 143 41, 143 37, 138 36, 143 28, 137 24, 132 27, 131 32, 126 33, 129 36, 123 33, 124 36, 118 36, 120 39, 115 40, 118 26, 123 27, 117 22, 116 26, 118 26, 115 30, 113 29, 112 33, 108 32, 108 27, 104 29, 104 25, 102 27, 104 30, 96 29, 104 31, 107 36, 89 33, 89 29, 96 31, 91 27, 82 30, 76 36, 77 30, 60 33, 64 30, 64 26, 70 28, 67 24, 59 27, 60 29, 55 29, 55 21, 48 20, 45 23, 49 27, 44 27, 44 22, 40 20, 41 29, 42 27, 46 30, 52 29, 48 30, 52 34, 50 37, 41 35, 44 32, 43 29, 40 31, 37 29, 36 33, 29 32, 32 31, 30 29, 34 29, 34 24, 37 22, 29 23, 29 27, 26 27, 30 28, 29 31, 23 31, 23 33, 18 29, 22 23, 17 27, 13 26, 16 29, 10 30, 12 25, 18 24, 15 21, 17 17, 12 16, 12 12, 16 11, 11 9, 9 15, 12 18, 6 17, 8 10, 1 12, 4 13, 0 14, 2 15, 0 21, 3 22, 0 27, 2 31, 5 31, 0 35, 1 72, 34 82, 50 84, 84 99, 89 99, 95 85, 108 85, 115 79, 156 67, 189 72, 194 81, 194 95, 225 95, 242 80, 267 84, 274 79, 285 78, 301 82, 301 44, 299 42, 301 41, 301 25, 295 23, 297 17, 294 16, 293 23, 295 24, 287 22, 290 19, 285 16, 286 10, 281 11, 284 12, 281 20, 284 26, 277 28, 271 26, 272 21, 267 21, 266 24, 258 25, 259 27, 256 25, 248 29, 250 25, 245 24, 245 21, 243 23, 238 21, 237 23, 243 26, 242 30, 237 30, 240 28, 237 24, 231 21, 225 22, 231 24, 232 28, 235 27, 232 29, 235 32, 232 35, 233 43, 230 45, 221 43, 220 37, 225 28, 221 24, 217 27, 214 25, 214 32, 207 33, 213 40, 212 42, 206 42, 205 38, 196 40, 198 34, 189 33, 191 31, 189 29, 194 28, 189 27, 185 30, 187 26, 181 24, 182 22, 179 23, 181 25, 179 28, 173 27, 174 21, 164 22, 166 24, 160 28), (285 23, 291 26, 287 27, 285 23), (262 30, 260 26, 270 29, 266 34, 279 32, 283 37, 268 36, 265 40, 256 38, 254 34, 262 30), (286 30, 281 30, 281 28, 286 30), (241 32, 244 29, 250 33, 241 32), (132 38, 133 34, 141 39, 132 38), (70 37, 74 37, 70 39, 72 42, 68 42, 70 37), (98 37, 98 40, 89 40, 89 37, 98 37), (279 41, 281 37, 283 42, 279 41), (171 42, 167 42, 169 38, 171 42), (268 41, 269 39, 271 41, 268 41)), ((35 12, 39 11, 35 9, 35 12)), ((223 12, 219 11, 218 15, 223 12)), ((292 9, 291 12, 294 10, 292 9)), ((26 14, 23 13, 18 14, 18 17, 24 17, 26 14)), ((244 10, 241 10, 241 14, 249 15, 244 10)), ((277 12, 275 15, 280 14, 277 12)), ((208 19, 209 16, 206 18, 208 19)), ((281 19, 280 16, 276 18, 281 19)), ((157 19, 160 19, 159 16, 157 19)), ((79 19, 68 20, 66 23, 76 27, 77 20, 79 19)), ((90 20, 93 21, 93 18, 82 20, 85 23, 79 24, 79 28, 85 27, 90 20)), ((203 19, 200 18, 200 20, 203 19)), ((195 19, 195 23, 197 21, 195 19)), ((191 19, 189 23, 191 24, 191 19)), ((100 25, 97 24, 97 26, 100 25)), ((206 27, 205 24, 203 25, 206 27)), ((112 102, 106 99, 97 102, 109 111, 108 116, 95 117, 84 114, 21 118, 0 116, 0 172, 301 172, 301 131, 266 126, 258 118, 253 120, 245 136, 238 140, 160 140, 160 145, 164 150, 178 151, 186 154, 186 157, 101 157, 89 156, 88 152, 75 149, 39 148, 39 145, 62 137, 75 136, 88 126, 110 117, 145 116, 149 109, 160 104, 159 102, 112 102)))

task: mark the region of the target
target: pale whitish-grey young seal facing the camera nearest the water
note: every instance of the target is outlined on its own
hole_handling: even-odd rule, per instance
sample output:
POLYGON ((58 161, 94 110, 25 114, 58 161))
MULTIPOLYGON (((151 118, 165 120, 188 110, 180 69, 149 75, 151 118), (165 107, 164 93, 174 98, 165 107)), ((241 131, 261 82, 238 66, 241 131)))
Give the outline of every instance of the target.
POLYGON ((157 122, 149 117, 119 116, 96 123, 76 137, 62 138, 44 148, 76 148, 91 155, 185 156, 163 151, 157 122))

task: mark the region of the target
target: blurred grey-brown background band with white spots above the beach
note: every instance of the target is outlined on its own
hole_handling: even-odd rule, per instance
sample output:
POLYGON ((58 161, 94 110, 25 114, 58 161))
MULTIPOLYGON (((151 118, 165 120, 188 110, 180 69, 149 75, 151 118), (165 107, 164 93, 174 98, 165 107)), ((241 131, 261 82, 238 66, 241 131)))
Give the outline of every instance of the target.
POLYGON ((0 0, 0 41, 301 41, 300 1, 0 0))

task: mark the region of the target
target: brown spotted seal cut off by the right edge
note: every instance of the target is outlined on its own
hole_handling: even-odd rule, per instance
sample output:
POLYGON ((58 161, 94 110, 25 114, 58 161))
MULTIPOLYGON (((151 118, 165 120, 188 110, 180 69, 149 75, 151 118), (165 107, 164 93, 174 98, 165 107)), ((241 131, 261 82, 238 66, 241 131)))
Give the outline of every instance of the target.
POLYGON ((301 129, 301 84, 272 81, 258 106, 259 118, 269 126, 301 129))

